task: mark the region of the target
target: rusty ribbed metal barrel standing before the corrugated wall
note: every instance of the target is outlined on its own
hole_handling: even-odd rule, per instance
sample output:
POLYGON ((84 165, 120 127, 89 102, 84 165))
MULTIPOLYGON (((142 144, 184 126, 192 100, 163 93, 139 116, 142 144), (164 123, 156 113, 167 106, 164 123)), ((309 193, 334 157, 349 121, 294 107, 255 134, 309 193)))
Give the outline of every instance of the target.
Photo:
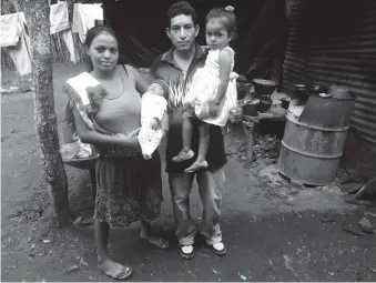
POLYGON ((299 117, 287 111, 278 160, 283 175, 309 185, 335 181, 355 102, 338 89, 332 93, 311 97, 299 117))

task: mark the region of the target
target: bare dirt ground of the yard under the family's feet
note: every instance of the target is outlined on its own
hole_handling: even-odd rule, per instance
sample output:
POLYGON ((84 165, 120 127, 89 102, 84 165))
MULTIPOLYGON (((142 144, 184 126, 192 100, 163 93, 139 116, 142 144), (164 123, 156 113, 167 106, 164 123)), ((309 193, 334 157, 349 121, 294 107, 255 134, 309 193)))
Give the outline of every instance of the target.
MULTIPOLYGON (((54 67, 60 135, 67 101, 61 87, 81 69, 54 67)), ((2 81, 13 75, 3 73, 2 81)), ((88 223, 54 230, 44 218, 48 196, 41 181, 32 92, 1 95, 1 280, 111 281, 95 264, 88 172, 65 168, 72 210, 88 223), (69 272, 73 265, 78 269, 69 272)), ((225 138, 228 151, 244 140, 240 129, 225 138)), ((347 204, 347 195, 335 185, 296 189, 278 175, 275 164, 243 169, 236 154, 228 156, 225 173, 222 231, 227 255, 216 257, 199 237, 195 259, 180 259, 163 173, 165 201, 155 226, 163 228, 171 247, 159 251, 140 240, 136 223, 111 234, 111 253, 133 266, 133 281, 376 281, 376 235, 343 231, 343 225, 358 229, 364 216, 376 226, 375 208, 347 204)), ((191 205, 200 221, 196 188, 191 205)))

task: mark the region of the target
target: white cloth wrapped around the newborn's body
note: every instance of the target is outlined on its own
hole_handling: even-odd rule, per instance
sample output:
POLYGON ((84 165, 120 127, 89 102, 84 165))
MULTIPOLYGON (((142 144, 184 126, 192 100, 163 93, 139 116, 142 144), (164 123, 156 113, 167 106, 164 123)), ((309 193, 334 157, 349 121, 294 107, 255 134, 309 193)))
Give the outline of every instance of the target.
POLYGON ((161 128, 153 130, 151 128, 151 122, 153 119, 162 121, 166 109, 167 101, 164 98, 151 92, 146 92, 142 95, 141 130, 138 138, 144 159, 151 159, 153 152, 162 141, 163 131, 161 128))

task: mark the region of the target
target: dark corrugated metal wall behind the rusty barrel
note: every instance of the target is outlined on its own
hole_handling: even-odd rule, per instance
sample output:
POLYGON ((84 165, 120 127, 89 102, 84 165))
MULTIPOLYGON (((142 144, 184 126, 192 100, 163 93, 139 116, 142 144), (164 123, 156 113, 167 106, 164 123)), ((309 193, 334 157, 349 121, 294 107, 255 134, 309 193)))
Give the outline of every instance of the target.
POLYGON ((376 1, 291 0, 282 89, 296 83, 348 87, 350 125, 376 144, 376 1))

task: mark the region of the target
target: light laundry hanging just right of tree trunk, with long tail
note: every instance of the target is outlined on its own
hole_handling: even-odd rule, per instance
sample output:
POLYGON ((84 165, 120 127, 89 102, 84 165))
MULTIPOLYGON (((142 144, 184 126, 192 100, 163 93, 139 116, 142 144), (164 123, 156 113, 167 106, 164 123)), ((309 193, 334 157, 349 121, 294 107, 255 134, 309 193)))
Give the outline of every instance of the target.
POLYGON ((75 63, 79 60, 79 55, 75 53, 72 31, 70 30, 67 2, 58 2, 50 6, 50 26, 51 34, 61 32, 70 53, 70 59, 75 63))

